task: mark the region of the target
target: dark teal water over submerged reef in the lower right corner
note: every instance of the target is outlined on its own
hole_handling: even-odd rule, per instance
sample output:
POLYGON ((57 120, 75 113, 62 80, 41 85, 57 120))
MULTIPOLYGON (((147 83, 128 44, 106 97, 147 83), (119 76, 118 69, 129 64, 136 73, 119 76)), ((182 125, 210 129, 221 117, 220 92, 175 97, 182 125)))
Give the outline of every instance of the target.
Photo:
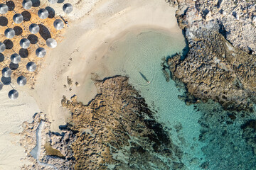
POLYGON ((255 169, 255 113, 224 111, 219 103, 198 103, 202 113, 199 142, 204 146, 201 169, 255 169))

